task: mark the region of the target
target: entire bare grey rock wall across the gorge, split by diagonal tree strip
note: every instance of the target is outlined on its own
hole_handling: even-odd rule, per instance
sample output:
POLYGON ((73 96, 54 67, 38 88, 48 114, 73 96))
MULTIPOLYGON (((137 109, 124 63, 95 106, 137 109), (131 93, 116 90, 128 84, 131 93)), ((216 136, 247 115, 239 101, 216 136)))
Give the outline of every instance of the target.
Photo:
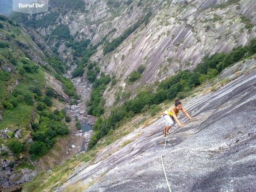
MULTIPOLYGON (((60 24, 67 25, 76 40, 89 38, 95 45, 105 35, 106 42, 112 42, 141 21, 147 11, 152 11, 149 22, 142 24, 115 50, 104 55, 102 44, 91 57, 91 60, 99 62, 101 71, 118 79, 112 90, 104 92, 107 106, 114 104, 115 93, 119 91, 133 94, 134 89, 144 83, 162 80, 179 69, 192 70, 206 54, 230 52, 256 37, 255 0, 153 0, 132 1, 129 5, 117 1, 120 3, 118 9, 113 8, 112 3, 88 0, 86 13, 70 12, 59 18, 60 24), (252 29, 246 28, 248 23, 244 23, 242 16, 254 25, 252 29), (117 30, 111 32, 112 29, 117 30), (119 90, 130 73, 140 65, 145 66, 142 77, 133 85, 119 90)), ((52 29, 54 27, 48 26, 39 31, 45 36, 51 34, 52 29)), ((63 49, 66 48, 61 43, 58 47, 60 55, 63 55, 63 49)), ((66 57, 71 58, 70 51, 63 56, 66 57)), ((75 84, 83 85, 85 79, 86 73, 76 78, 75 84)), ((88 94, 84 90, 84 87, 78 88, 82 96, 88 94)))

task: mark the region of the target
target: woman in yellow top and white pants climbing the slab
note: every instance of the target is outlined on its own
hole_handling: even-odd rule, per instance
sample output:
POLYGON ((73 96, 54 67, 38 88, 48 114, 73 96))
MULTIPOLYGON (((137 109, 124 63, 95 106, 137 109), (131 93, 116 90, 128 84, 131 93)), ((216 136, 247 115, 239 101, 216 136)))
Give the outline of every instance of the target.
POLYGON ((165 126, 165 130, 163 131, 165 137, 169 134, 168 130, 170 129, 170 127, 172 125, 174 125, 174 121, 176 121, 180 127, 183 127, 184 124, 181 124, 179 119, 177 118, 177 115, 179 114, 180 110, 185 114, 185 116, 187 116, 190 120, 194 119, 194 117, 190 117, 189 114, 185 111, 185 109, 183 108, 183 106, 181 106, 181 102, 178 99, 175 99, 175 106, 171 107, 170 109, 167 109, 164 112, 163 117, 165 117, 165 119, 167 120, 166 126, 165 126))

